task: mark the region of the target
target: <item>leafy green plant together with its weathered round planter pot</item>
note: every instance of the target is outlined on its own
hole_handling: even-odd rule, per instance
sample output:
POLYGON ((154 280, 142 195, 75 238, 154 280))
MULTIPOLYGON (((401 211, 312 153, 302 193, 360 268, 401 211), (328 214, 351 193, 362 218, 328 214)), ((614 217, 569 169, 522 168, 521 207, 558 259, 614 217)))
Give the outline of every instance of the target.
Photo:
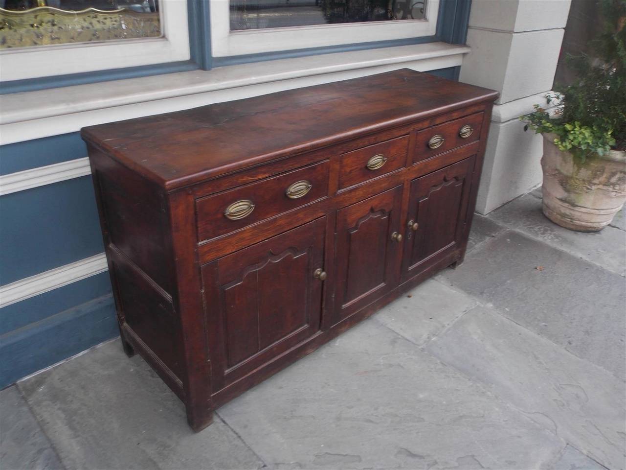
POLYGON ((602 0, 596 58, 568 56, 577 81, 520 119, 543 135, 543 213, 583 232, 607 226, 626 201, 626 2, 602 0))

